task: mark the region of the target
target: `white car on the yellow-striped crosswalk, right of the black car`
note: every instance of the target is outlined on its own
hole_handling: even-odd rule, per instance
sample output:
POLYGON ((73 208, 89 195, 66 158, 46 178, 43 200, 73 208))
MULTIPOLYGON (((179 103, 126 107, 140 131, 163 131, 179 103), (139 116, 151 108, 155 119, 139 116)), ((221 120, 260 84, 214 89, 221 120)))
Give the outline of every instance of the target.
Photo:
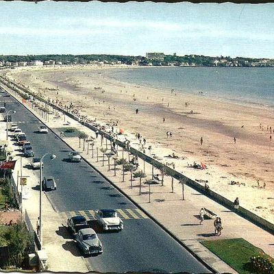
POLYGON ((96 218, 103 230, 118 230, 124 228, 123 221, 119 218, 117 212, 112 209, 97 210, 96 218))

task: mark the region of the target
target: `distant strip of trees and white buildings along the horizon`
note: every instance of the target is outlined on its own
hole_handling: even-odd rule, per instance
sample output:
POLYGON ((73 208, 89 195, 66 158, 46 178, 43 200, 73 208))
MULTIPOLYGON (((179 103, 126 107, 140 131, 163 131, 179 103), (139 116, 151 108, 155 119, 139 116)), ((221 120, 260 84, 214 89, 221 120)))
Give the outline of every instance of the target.
POLYGON ((0 67, 18 66, 66 66, 66 65, 129 65, 129 66, 274 66, 274 59, 243 58, 230 56, 204 55, 165 55, 164 53, 146 53, 146 56, 129 55, 0 55, 0 67))

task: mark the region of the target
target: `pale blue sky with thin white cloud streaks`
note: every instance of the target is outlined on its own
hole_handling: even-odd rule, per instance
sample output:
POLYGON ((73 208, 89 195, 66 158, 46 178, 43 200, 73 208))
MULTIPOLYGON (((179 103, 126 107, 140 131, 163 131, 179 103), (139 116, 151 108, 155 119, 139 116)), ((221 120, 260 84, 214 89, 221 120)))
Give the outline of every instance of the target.
POLYGON ((0 1, 0 55, 274 58, 274 3, 0 1))

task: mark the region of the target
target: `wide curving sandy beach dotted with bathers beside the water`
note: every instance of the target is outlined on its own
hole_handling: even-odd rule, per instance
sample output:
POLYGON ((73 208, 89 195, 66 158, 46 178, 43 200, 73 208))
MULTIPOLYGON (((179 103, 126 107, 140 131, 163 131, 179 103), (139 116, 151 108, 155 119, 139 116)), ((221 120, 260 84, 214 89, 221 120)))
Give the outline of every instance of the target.
POLYGON ((106 77, 108 69, 113 68, 43 67, 2 73, 45 98, 72 102, 92 120, 113 119, 128 135, 139 132, 147 140, 145 149, 151 145, 162 162, 173 162, 192 179, 208 180, 210 189, 231 201, 239 197, 241 206, 274 223, 274 140, 266 130, 267 125, 274 129, 273 110, 122 83, 106 77), (179 159, 166 158, 172 153, 179 159), (193 162, 207 169, 188 167, 193 162))

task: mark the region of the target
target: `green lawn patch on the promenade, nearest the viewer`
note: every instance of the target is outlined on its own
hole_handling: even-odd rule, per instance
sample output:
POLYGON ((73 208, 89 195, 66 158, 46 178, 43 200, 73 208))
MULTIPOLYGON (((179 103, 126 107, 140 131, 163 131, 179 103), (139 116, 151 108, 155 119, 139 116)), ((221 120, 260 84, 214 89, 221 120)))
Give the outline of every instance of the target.
POLYGON ((201 244, 240 274, 253 273, 249 271, 250 258, 263 252, 243 238, 205 240, 201 244))

